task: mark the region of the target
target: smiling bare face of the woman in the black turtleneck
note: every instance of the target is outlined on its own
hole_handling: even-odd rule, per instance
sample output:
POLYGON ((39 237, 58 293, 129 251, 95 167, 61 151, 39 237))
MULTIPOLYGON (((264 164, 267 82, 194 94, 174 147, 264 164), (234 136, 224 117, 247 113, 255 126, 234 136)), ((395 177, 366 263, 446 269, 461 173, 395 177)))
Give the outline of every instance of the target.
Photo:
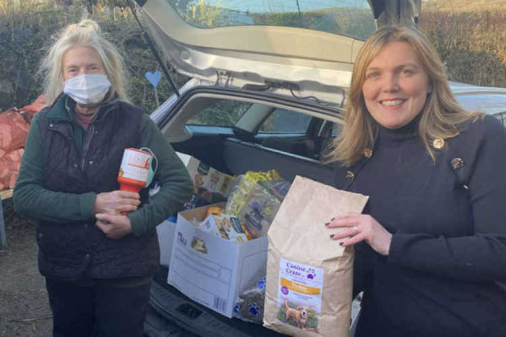
POLYGON ((365 71, 362 93, 370 115, 383 127, 399 129, 423 109, 431 92, 429 75, 407 42, 381 47, 365 71))

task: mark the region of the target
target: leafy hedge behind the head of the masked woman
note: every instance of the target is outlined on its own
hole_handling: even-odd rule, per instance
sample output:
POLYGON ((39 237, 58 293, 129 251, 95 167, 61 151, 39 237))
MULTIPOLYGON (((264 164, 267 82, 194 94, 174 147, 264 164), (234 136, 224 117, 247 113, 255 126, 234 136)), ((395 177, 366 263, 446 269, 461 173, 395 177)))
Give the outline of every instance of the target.
MULTIPOLYGON (((43 78, 37 75, 39 62, 63 27, 87 15, 81 1, 0 0, 0 111, 31 103, 43 93, 43 78), (65 5, 68 3, 70 5, 65 5)), ((129 70, 129 96, 146 112, 157 108, 155 90, 145 77, 147 71, 161 70, 141 36, 130 9, 95 6, 89 15, 99 23, 108 38, 119 48, 129 70)), ((170 67, 168 67, 170 68, 170 67)), ((187 77, 169 70, 177 86, 187 77)), ((172 95, 169 82, 162 77, 157 94, 163 102, 172 95)))

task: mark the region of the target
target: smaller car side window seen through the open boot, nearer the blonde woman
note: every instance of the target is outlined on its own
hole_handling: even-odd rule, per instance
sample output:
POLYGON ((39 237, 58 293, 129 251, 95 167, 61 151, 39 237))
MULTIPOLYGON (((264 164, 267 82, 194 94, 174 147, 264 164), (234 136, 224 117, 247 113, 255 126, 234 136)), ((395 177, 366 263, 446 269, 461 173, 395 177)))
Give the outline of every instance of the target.
POLYGON ((305 134, 311 118, 300 112, 276 109, 265 119, 259 132, 305 134))

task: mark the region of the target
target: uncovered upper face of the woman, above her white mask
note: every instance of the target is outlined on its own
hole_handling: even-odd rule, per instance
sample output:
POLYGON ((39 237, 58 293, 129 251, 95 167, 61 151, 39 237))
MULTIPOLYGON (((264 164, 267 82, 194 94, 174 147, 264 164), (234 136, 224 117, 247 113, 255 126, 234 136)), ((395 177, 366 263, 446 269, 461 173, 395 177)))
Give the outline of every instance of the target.
POLYGON ((100 55, 91 47, 72 47, 63 54, 63 79, 83 74, 105 74, 100 55))

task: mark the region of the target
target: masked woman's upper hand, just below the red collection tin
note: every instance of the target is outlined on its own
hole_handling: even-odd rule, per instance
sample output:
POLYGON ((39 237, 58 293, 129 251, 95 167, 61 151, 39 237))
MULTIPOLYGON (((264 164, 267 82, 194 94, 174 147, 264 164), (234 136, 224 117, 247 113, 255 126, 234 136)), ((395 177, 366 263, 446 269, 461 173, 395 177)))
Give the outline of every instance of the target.
POLYGON ((97 195, 93 213, 121 214, 133 212, 140 205, 139 193, 127 191, 104 192, 97 195))

